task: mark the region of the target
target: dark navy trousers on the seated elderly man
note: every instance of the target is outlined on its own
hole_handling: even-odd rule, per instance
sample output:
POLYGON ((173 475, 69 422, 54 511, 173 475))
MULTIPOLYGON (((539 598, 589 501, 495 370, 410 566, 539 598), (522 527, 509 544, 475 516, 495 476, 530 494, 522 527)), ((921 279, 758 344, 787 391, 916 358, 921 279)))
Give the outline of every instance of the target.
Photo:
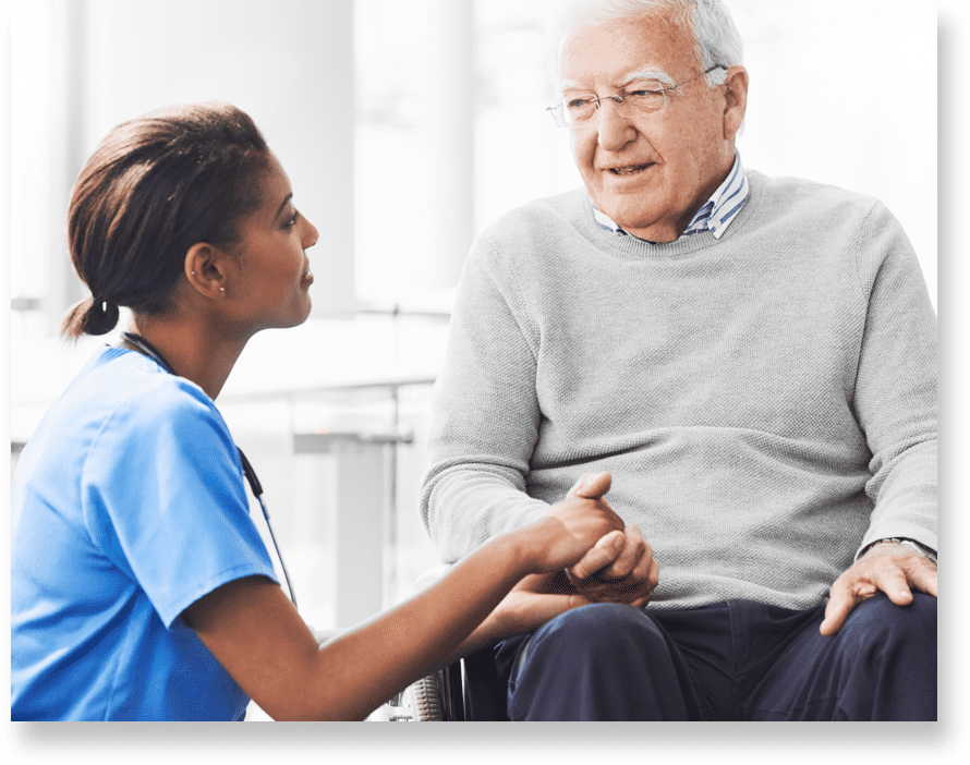
POLYGON ((824 636, 825 604, 603 603, 495 647, 517 720, 935 720, 936 598, 884 593, 824 636))

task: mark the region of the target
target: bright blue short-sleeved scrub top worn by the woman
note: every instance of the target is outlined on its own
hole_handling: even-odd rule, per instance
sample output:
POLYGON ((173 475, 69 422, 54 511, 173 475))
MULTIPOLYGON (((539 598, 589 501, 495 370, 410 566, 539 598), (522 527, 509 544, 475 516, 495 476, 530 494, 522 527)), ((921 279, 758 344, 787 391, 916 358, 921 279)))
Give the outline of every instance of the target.
POLYGON ((248 696, 180 616, 232 580, 278 583, 202 388, 98 350, 21 454, 11 512, 11 719, 245 716, 248 696))

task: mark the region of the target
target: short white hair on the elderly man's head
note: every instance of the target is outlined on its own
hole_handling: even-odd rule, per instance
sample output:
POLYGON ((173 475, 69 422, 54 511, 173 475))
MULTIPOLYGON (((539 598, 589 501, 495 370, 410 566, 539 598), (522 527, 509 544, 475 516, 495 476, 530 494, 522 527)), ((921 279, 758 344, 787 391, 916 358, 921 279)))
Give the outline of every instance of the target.
MULTIPOLYGON (((702 70, 715 64, 737 66, 743 60, 741 36, 731 14, 722 0, 568 0, 557 3, 551 20, 551 74, 555 87, 561 78, 562 52, 569 36, 579 28, 602 26, 664 10, 671 24, 687 21, 694 36, 694 53, 702 70)), ((726 72, 716 69, 707 74, 711 87, 724 82, 726 72)))

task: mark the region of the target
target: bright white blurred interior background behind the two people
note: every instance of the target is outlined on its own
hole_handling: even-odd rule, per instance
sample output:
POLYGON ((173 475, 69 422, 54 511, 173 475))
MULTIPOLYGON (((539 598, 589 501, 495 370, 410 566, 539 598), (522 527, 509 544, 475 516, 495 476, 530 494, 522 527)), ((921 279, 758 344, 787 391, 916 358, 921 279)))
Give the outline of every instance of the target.
MULTIPOLYGON (((128 319, 59 338, 87 294, 64 232, 81 166, 120 122, 227 100, 260 127, 320 239, 311 319, 255 336, 219 409, 310 623, 350 627, 413 594, 439 562, 417 494, 465 254, 512 207, 581 185, 544 111, 555 2, 14 0, 11 476, 44 412, 128 319)), ((880 197, 935 307, 936 3, 727 5, 751 78, 745 168, 880 197)))

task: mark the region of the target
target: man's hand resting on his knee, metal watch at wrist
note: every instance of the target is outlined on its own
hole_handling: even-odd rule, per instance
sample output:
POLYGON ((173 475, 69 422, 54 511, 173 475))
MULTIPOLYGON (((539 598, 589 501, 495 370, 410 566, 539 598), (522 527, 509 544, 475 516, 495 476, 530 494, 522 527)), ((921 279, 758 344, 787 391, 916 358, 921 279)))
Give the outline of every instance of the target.
POLYGON ((875 545, 835 580, 820 631, 834 635, 849 612, 880 590, 897 606, 908 606, 913 588, 936 597, 936 563, 899 544, 875 545))

